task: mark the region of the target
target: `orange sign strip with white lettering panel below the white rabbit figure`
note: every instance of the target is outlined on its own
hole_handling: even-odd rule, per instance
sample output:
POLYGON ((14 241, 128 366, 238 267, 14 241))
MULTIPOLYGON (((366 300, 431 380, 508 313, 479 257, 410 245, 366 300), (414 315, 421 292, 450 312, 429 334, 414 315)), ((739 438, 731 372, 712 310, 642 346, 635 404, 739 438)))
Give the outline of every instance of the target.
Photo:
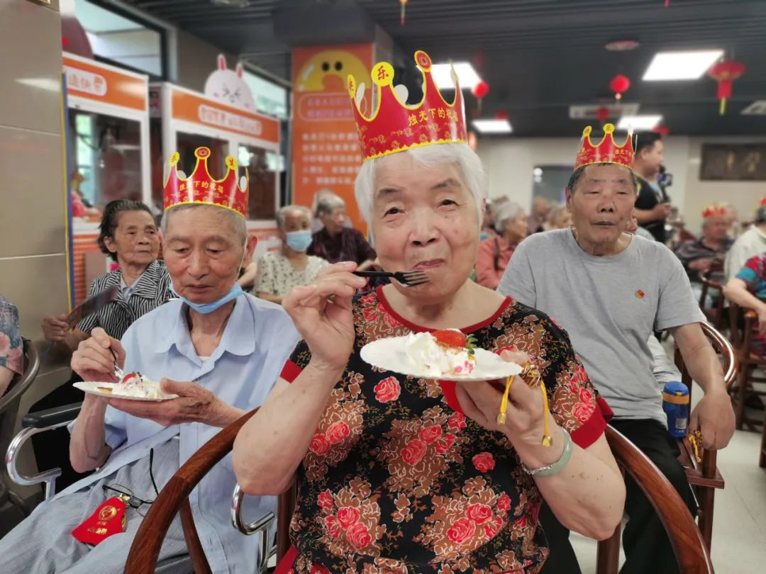
POLYGON ((172 119, 247 135, 266 142, 280 141, 279 120, 227 106, 177 86, 172 87, 171 107, 172 119))

